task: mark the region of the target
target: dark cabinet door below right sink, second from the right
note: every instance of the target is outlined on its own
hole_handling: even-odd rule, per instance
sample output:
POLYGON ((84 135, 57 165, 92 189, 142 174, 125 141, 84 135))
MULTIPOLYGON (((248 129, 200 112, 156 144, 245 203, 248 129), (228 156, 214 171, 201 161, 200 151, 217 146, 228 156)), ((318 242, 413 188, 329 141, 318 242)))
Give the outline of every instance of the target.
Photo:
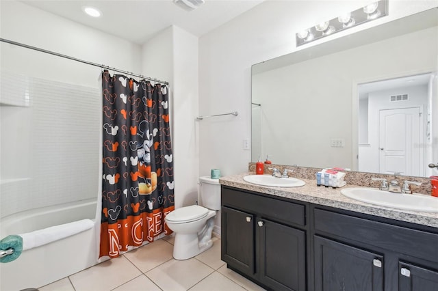
POLYGON ((383 257, 334 240, 315 238, 315 290, 383 291, 383 257))

